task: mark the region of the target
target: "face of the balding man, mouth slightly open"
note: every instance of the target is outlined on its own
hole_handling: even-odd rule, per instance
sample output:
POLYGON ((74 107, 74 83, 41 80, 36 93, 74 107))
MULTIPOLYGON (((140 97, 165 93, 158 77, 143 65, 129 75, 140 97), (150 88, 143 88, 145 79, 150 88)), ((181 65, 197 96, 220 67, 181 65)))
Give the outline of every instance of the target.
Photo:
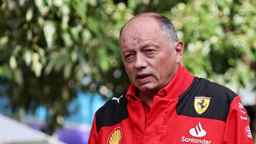
POLYGON ((120 47, 128 77, 141 92, 158 92, 178 70, 181 57, 154 18, 139 17, 127 23, 120 47))

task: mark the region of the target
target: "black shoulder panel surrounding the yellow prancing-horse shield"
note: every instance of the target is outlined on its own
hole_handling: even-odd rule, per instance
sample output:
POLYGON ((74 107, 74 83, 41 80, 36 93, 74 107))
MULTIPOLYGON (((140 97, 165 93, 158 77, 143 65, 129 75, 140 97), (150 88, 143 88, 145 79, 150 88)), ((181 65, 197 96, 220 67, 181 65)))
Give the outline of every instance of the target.
POLYGON ((195 77, 188 90, 179 97, 176 112, 178 115, 218 119, 225 122, 230 103, 235 96, 237 94, 220 84, 195 77), (194 104, 197 96, 210 98, 208 109, 201 114, 196 112, 194 105, 206 106, 206 104, 202 105, 204 101, 194 104))

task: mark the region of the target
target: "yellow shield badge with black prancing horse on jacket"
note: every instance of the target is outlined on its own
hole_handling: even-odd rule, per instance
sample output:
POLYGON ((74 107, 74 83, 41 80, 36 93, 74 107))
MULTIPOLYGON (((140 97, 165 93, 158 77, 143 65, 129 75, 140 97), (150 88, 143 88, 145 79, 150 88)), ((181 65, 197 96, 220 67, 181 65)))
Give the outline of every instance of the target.
POLYGON ((204 96, 195 97, 194 107, 198 114, 202 114, 203 112, 205 112, 206 109, 208 109, 209 104, 210 104, 210 97, 204 97, 204 96))

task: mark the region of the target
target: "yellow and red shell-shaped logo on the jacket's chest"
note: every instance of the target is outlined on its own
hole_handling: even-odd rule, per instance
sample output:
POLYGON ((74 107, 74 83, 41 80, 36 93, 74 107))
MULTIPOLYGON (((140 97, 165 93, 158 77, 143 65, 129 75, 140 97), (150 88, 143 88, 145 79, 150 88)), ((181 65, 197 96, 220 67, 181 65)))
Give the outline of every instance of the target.
POLYGON ((120 144, 122 140, 122 129, 120 127, 114 128, 110 137, 107 140, 107 144, 120 144))

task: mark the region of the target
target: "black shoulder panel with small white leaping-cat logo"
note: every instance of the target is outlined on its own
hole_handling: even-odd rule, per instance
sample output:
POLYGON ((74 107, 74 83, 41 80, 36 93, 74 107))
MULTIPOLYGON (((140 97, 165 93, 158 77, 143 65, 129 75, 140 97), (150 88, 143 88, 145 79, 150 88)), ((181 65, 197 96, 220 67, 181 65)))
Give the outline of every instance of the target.
POLYGON ((97 132, 102 126, 113 126, 128 117, 126 92, 113 97, 95 113, 97 132))

